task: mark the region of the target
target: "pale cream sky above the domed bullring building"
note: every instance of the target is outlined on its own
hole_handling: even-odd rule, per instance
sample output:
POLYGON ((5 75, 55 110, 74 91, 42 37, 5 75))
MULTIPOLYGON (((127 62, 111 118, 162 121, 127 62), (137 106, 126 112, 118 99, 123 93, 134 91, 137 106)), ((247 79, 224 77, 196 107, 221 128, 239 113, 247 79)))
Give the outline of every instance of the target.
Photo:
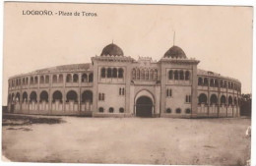
POLYGON ((159 61, 173 45, 198 68, 252 85, 251 7, 13 3, 4 6, 3 105, 8 78, 58 65, 90 63, 112 41, 125 56, 159 61), (23 15, 52 11, 53 16, 23 15), (62 12, 96 17, 59 16, 62 12), (55 13, 57 13, 55 15, 55 13))

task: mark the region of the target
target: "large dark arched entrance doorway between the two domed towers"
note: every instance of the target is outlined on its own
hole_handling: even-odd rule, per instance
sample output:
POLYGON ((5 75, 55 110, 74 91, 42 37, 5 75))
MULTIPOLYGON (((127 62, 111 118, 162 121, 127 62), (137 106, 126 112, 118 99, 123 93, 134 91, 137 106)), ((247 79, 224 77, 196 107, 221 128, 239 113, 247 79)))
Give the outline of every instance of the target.
POLYGON ((152 117, 153 101, 148 96, 141 96, 136 101, 137 117, 152 117))

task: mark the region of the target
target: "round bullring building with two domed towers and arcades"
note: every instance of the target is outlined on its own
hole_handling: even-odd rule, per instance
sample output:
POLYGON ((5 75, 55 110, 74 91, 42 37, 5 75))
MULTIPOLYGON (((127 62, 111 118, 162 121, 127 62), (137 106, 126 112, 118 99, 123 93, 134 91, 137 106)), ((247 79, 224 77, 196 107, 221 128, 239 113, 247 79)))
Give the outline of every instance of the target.
POLYGON ((159 61, 135 60, 116 44, 92 63, 11 77, 8 111, 93 117, 237 117, 241 83, 197 68, 173 45, 159 61))

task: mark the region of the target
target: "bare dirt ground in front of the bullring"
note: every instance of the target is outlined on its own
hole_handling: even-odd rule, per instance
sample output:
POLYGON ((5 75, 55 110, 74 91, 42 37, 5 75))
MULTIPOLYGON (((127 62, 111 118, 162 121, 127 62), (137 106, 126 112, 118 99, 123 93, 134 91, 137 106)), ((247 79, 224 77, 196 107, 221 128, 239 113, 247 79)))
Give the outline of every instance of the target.
POLYGON ((245 118, 20 117, 3 118, 12 161, 244 165, 250 155, 245 118))

